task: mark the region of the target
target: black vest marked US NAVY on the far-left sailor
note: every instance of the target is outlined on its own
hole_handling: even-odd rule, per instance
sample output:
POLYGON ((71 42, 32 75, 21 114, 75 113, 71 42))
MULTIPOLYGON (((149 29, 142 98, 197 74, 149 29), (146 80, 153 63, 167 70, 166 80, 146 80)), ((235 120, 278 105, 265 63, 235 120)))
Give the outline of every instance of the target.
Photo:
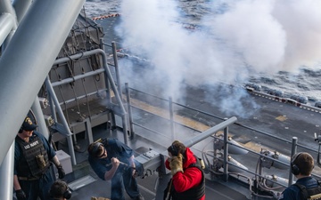
POLYGON ((24 156, 17 165, 20 177, 40 178, 50 166, 44 143, 38 136, 35 136, 34 139, 30 142, 16 140, 24 156))

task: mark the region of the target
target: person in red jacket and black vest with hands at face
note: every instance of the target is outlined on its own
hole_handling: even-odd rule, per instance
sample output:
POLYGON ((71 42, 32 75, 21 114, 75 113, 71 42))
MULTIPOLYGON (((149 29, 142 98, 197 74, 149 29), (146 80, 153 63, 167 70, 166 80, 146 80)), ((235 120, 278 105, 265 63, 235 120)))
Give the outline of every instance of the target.
MULTIPOLYGON (((175 140, 168 148, 166 168, 172 173, 168 189, 172 200, 205 200, 205 178, 202 166, 190 148, 175 140)), ((164 199, 167 195, 164 194, 164 199)))

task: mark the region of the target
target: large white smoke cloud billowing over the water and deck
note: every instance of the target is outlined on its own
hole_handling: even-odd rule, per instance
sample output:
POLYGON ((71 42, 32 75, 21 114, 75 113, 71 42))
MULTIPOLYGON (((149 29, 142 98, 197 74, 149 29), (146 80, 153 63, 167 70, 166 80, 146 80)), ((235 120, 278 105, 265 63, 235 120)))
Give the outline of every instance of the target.
MULTIPOLYGON (((117 29, 124 38, 122 46, 152 63, 152 68, 139 77, 131 76, 136 73, 135 64, 125 63, 131 67, 125 68, 129 83, 134 80, 138 84, 138 79, 159 83, 161 91, 173 100, 181 100, 186 85, 240 85, 259 73, 320 68, 320 1, 231 0, 202 4, 207 4, 210 12, 195 13, 202 19, 195 21, 198 26, 191 30, 180 21, 185 13, 177 1, 122 2, 122 22, 117 29)), ((244 113, 235 102, 246 98, 247 92, 221 90, 208 95, 231 114, 244 113)))

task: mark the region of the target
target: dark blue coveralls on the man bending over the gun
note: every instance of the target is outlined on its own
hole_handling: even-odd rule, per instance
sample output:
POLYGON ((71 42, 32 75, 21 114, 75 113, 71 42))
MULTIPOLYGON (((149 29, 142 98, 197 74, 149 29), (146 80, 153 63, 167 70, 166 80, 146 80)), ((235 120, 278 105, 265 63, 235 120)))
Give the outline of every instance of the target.
MULTIPOLYGON (((107 150, 107 157, 96 158, 89 155, 88 162, 97 176, 105 180, 105 172, 111 170, 111 158, 117 157, 120 162, 129 164, 128 158, 133 155, 133 150, 117 139, 108 139, 108 144, 104 143, 103 147, 107 150)), ((132 176, 132 169, 119 164, 117 171, 111 179, 111 200, 125 199, 123 186, 131 198, 139 196, 139 189, 136 179, 132 176)))

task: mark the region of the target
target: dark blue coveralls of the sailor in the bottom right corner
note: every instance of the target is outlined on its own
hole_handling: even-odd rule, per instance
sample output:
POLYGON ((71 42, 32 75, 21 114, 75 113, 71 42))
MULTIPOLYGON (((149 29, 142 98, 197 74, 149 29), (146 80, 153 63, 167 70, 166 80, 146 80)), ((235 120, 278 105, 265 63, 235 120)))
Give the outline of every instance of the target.
MULTIPOLYGON (((317 187, 317 180, 312 177, 304 177, 296 181, 300 185, 305 186, 306 188, 315 188, 317 187)), ((294 185, 291 185, 288 188, 285 188, 282 195, 279 197, 281 200, 300 200, 300 188, 294 185)))

